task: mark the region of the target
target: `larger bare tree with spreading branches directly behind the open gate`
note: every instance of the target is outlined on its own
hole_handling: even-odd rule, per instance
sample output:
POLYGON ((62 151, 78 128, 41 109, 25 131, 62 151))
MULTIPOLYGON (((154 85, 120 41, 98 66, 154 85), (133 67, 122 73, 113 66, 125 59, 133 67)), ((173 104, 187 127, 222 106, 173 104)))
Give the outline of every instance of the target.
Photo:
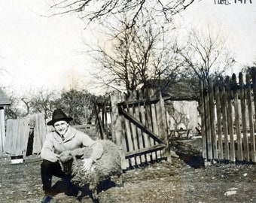
POLYGON ((155 23, 151 19, 140 28, 126 29, 124 21, 119 34, 93 50, 96 66, 101 67, 96 74, 101 84, 130 91, 160 86, 163 79, 166 84, 175 80, 181 64, 175 60, 172 40, 164 39, 166 30, 155 29, 155 23))

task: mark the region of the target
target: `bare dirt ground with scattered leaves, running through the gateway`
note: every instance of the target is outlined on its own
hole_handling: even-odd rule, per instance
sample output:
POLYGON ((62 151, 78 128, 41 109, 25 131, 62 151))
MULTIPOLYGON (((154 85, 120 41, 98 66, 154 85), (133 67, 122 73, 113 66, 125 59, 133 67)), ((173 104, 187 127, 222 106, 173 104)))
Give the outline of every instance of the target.
MULTIPOLYGON (((163 160, 124 171, 123 187, 103 184, 99 202, 256 202, 256 165, 203 167, 200 146, 192 142, 173 142, 172 150, 179 157, 173 153, 172 162, 163 160)), ((40 164, 35 155, 14 165, 8 154, 0 154, 0 202, 40 202, 44 195, 40 164)), ((93 202, 87 192, 82 197, 71 194, 59 178, 53 179, 53 185, 59 186, 53 202, 93 202)))

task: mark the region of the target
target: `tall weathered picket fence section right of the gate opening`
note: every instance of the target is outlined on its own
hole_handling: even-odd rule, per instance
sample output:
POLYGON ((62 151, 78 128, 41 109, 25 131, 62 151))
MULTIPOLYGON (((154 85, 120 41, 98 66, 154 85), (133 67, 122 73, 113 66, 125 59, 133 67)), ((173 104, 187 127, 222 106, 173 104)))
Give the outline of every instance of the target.
POLYGON ((204 80, 200 98, 203 158, 256 162, 256 74, 204 80))

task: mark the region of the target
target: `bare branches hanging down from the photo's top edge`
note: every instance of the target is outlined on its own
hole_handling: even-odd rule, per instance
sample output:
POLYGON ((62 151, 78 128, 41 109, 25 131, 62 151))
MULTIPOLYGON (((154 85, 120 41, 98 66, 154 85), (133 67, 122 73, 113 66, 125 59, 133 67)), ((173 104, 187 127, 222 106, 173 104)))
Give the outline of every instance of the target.
POLYGON ((166 22, 172 22, 175 14, 184 11, 195 0, 55 0, 50 2, 54 14, 78 13, 87 23, 110 22, 129 14, 129 28, 145 17, 145 11, 160 16, 166 22))

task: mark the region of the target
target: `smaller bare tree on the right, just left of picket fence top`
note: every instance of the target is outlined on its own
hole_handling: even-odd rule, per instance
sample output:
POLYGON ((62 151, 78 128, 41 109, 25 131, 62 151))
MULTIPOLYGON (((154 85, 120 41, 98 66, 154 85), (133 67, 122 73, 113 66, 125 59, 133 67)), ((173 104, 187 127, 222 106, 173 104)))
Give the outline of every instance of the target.
POLYGON ((187 44, 177 50, 184 61, 186 74, 199 80, 224 74, 235 62, 226 41, 220 32, 214 34, 210 28, 205 33, 190 32, 187 44))

